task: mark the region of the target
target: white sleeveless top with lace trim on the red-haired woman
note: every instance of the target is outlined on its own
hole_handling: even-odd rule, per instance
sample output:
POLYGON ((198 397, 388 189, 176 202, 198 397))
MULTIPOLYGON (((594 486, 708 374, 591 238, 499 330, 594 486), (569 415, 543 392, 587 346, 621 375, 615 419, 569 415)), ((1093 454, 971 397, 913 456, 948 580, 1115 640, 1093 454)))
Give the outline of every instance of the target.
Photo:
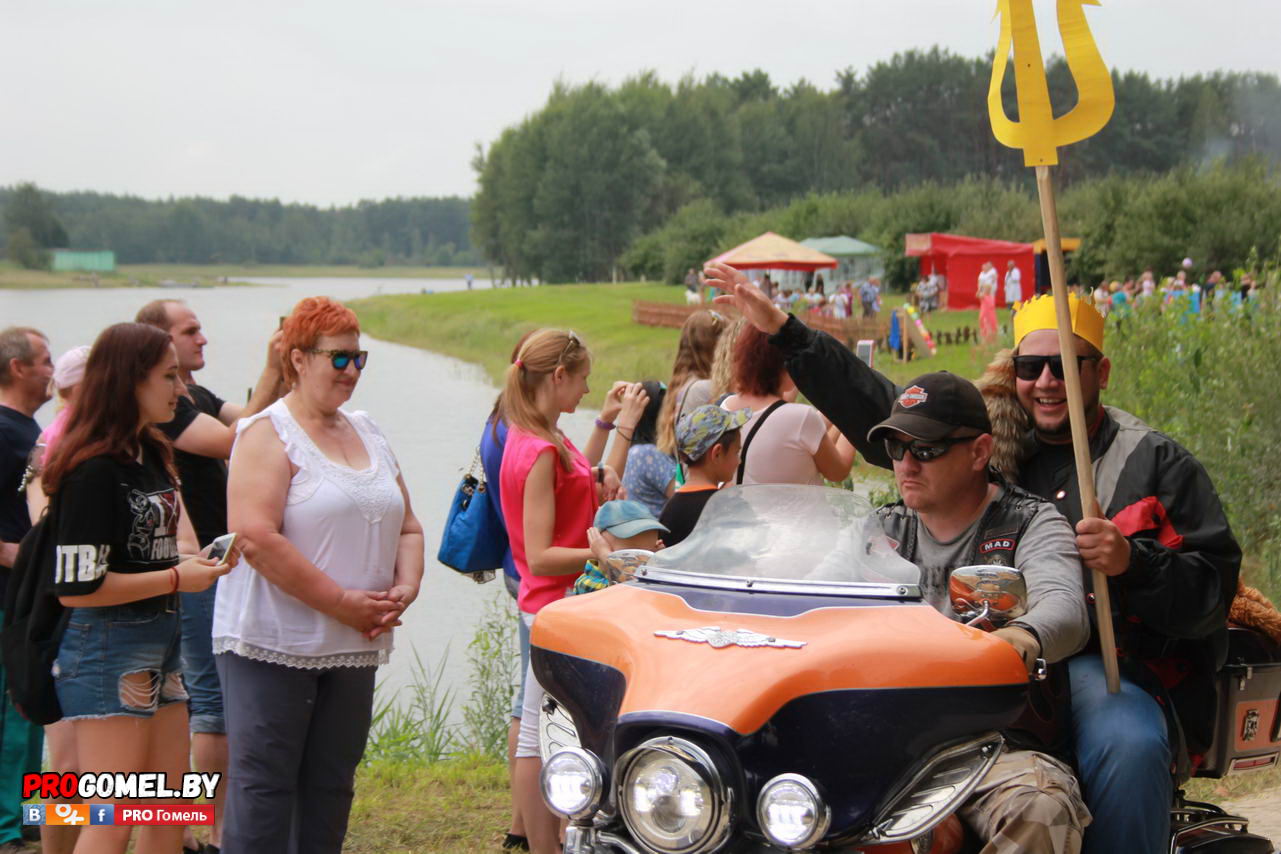
MULTIPOLYGON (((272 420, 297 467, 281 534, 338 586, 386 590, 395 577, 405 519, 405 499, 396 483, 400 467, 368 415, 342 415, 365 444, 368 469, 356 471, 324 456, 283 399, 243 419, 236 435, 238 440, 249 425, 272 420)), ((391 632, 365 640, 355 629, 281 590, 243 558, 218 583, 214 653, 288 667, 377 667, 387 663, 391 648, 391 632)))

